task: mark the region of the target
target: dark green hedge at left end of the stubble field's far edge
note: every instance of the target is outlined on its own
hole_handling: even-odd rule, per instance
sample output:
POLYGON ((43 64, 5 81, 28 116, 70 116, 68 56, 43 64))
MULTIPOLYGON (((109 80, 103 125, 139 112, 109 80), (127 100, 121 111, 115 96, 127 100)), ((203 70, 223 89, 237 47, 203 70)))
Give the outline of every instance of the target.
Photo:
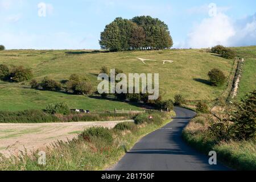
POLYGON ((0 123, 48 123, 59 122, 55 115, 42 110, 0 111, 0 123))

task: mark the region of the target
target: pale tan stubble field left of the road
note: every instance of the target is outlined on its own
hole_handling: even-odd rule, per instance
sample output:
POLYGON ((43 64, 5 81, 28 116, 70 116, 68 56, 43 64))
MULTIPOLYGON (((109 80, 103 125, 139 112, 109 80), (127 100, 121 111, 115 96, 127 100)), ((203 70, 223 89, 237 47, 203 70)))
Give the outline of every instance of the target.
POLYGON ((77 136, 84 129, 92 126, 113 128, 111 122, 72 122, 72 123, 0 123, 0 153, 16 154, 19 150, 40 149, 56 140, 67 140, 77 136))

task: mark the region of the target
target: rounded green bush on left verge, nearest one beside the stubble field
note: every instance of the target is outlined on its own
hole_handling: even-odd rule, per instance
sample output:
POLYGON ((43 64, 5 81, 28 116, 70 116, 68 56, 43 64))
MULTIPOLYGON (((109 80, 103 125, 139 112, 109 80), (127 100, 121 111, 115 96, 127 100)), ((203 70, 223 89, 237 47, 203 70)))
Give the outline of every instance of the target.
POLYGON ((81 133, 79 137, 89 141, 95 137, 107 143, 113 143, 112 131, 106 127, 90 127, 81 133))

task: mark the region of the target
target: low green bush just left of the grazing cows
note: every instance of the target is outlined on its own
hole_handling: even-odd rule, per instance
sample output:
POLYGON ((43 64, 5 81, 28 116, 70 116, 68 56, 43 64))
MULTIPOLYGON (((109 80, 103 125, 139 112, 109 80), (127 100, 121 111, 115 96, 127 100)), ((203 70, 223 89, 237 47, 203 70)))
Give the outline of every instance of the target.
POLYGON ((59 103, 56 105, 49 104, 46 106, 46 109, 44 109, 44 111, 48 114, 70 114, 70 109, 68 108, 68 105, 64 103, 59 103))

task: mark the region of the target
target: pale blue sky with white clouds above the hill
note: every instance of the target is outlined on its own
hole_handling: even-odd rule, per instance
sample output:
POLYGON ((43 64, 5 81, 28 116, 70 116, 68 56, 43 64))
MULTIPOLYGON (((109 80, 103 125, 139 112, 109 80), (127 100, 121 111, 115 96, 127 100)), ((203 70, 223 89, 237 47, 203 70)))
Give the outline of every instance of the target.
POLYGON ((256 45, 255 0, 0 0, 6 49, 100 49, 106 24, 150 15, 169 27, 174 48, 256 45))

